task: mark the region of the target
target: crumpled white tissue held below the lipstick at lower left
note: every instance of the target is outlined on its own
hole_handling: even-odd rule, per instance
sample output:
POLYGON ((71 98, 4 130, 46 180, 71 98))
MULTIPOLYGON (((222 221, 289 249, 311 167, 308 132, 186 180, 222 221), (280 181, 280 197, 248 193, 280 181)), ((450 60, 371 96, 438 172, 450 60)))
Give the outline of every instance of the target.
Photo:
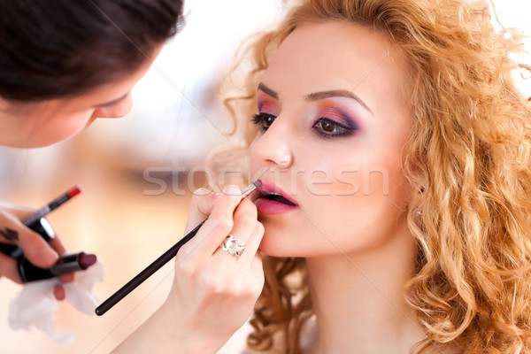
MULTIPOLYGON (((75 273, 73 282, 61 284, 65 289, 65 300, 78 311, 94 315, 99 302, 91 290, 97 281, 103 279, 104 265, 98 260, 87 270, 75 273)), ((71 344, 73 332, 55 330, 53 312, 58 309, 58 301, 53 295, 53 289, 56 284, 59 284, 57 278, 25 284, 9 304, 9 326, 12 329, 26 330, 35 326, 55 342, 61 345, 71 344)))

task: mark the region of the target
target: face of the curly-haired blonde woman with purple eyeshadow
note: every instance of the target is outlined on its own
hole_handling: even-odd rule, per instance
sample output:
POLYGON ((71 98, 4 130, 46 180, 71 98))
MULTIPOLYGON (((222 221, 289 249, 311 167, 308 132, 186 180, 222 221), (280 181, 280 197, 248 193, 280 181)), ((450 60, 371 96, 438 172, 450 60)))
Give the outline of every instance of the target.
POLYGON ((387 35, 340 21, 297 27, 258 87, 251 175, 272 256, 351 254, 404 235, 412 187, 405 63, 387 35))

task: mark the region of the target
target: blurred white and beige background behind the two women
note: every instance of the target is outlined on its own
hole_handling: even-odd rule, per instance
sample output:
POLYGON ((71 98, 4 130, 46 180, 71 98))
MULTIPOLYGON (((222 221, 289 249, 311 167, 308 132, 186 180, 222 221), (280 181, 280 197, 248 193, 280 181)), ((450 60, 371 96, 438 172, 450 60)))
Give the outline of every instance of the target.
MULTIPOLYGON (((39 208, 73 185, 82 186, 81 196, 48 219, 68 250, 94 252, 103 260, 104 282, 93 291, 101 301, 181 237, 191 191, 212 187, 205 158, 220 145, 237 143, 227 136, 232 123, 218 96, 219 79, 237 45, 277 18, 283 2, 185 3, 186 26, 135 87, 127 118, 97 120, 81 135, 49 148, 0 147, 0 200, 39 208)), ((504 27, 531 35, 531 4, 494 3, 504 27)), ((531 49, 529 40, 526 45, 531 49)), ((529 56, 519 60, 531 63, 529 56)), ((531 82, 518 82, 531 96, 531 82)), ((0 351, 107 353, 158 308, 172 281, 170 262, 103 317, 60 303, 57 328, 76 335, 71 346, 61 347, 40 332, 9 328, 8 304, 20 287, 0 279, 0 351)), ((240 352, 244 335, 245 328, 221 352, 240 352)))

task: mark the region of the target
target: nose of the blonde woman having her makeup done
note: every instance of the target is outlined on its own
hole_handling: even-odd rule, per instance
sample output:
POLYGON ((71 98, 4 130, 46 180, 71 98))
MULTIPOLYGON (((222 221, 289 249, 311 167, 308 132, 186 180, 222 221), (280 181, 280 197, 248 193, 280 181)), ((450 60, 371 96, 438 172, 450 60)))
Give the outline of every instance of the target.
POLYGON ((279 123, 281 122, 275 121, 264 134, 255 139, 250 145, 250 155, 266 165, 289 168, 294 159, 289 145, 292 135, 289 134, 289 127, 279 123))

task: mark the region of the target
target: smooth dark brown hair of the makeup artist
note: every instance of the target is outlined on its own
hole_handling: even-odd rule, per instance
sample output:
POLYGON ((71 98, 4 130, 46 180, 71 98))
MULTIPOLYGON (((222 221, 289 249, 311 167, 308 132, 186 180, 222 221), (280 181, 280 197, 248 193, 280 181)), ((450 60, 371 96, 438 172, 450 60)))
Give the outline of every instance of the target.
POLYGON ((0 0, 0 96, 75 96, 133 73, 177 32, 181 10, 181 0, 0 0))

